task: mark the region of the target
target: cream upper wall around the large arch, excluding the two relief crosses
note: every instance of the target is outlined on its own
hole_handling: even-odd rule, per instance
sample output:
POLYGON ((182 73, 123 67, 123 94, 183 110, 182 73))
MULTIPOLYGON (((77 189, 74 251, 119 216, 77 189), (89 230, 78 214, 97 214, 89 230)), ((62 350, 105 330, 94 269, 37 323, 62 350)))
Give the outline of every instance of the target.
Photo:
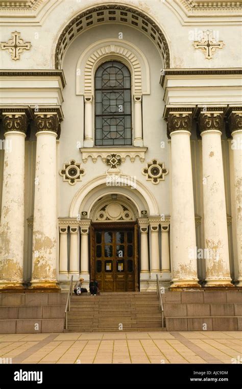
MULTIPOLYGON (((87 8, 95 5, 110 3, 110 1, 94 0, 60 0, 56 6, 46 11, 40 23, 12 18, 7 25, 2 19, 0 23, 1 41, 7 41, 11 32, 21 32, 21 37, 31 41, 30 51, 24 51, 19 61, 11 60, 7 51, 0 51, 0 67, 4 69, 51 69, 54 68, 54 53, 58 36, 68 22, 87 8), (36 23, 36 25, 35 25, 36 23), (17 28, 16 28, 17 26, 17 28)), ((184 26, 173 9, 162 0, 112 0, 111 3, 128 5, 152 17, 163 31, 171 51, 171 67, 238 67, 241 66, 241 29, 238 25, 227 25, 221 18, 211 17, 209 23, 199 19, 198 25, 184 26), (213 30, 219 33, 225 47, 217 50, 214 58, 205 59, 204 53, 195 50, 189 40, 191 31, 213 30)), ((226 12, 226 11, 225 11, 226 12)), ((228 16, 226 23, 232 21, 228 16)), ((112 25, 113 26, 113 25, 112 25)), ((90 29, 91 30, 91 29, 90 29)))

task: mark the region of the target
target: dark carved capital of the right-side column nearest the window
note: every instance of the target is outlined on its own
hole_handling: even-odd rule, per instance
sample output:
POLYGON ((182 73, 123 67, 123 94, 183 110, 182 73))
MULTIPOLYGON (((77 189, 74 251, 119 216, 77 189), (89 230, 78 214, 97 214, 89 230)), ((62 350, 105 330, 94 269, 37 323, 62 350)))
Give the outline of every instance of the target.
POLYGON ((167 136, 170 137, 174 131, 191 132, 192 109, 176 108, 170 109, 167 116, 167 136))

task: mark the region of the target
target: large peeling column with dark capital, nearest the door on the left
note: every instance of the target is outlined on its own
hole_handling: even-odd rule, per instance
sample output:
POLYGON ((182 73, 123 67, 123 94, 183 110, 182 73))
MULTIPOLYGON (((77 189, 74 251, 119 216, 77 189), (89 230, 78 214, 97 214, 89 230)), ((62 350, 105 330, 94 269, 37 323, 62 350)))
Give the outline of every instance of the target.
POLYGON ((36 113, 37 128, 32 289, 54 289, 57 286, 57 199, 56 137, 57 113, 36 113))

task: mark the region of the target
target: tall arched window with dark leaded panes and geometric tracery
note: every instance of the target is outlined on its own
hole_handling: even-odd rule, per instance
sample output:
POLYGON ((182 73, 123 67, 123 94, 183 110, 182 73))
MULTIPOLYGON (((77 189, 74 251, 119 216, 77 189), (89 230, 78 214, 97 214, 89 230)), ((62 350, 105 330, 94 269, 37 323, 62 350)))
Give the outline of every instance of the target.
POLYGON ((125 144, 132 144, 130 71, 108 61, 95 74, 95 145, 125 144))

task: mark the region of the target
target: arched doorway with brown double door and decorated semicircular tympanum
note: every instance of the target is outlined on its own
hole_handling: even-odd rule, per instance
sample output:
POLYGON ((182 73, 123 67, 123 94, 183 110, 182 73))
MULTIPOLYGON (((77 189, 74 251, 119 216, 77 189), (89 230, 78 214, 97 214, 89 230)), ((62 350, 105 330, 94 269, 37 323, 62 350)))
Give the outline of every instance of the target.
POLYGON ((138 212, 116 194, 97 203, 91 212, 90 277, 101 291, 137 291, 138 212))

